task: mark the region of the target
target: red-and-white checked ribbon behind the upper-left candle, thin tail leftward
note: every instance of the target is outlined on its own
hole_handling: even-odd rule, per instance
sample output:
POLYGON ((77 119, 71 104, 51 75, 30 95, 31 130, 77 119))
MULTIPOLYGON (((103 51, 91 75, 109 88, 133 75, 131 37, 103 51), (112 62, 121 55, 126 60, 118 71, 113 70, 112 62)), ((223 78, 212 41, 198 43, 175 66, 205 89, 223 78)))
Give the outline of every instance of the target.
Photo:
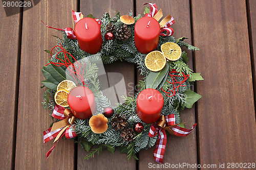
MULTIPOLYGON (((80 19, 83 18, 83 14, 81 12, 75 12, 75 11, 72 10, 72 15, 73 15, 73 19, 74 19, 75 23, 77 23, 80 19)), ((101 20, 99 20, 97 18, 94 18, 94 19, 99 23, 99 25, 102 24, 101 20)), ((42 23, 44 23, 44 22, 42 21, 42 23)), ((44 23, 44 25, 46 25, 46 24, 44 23)), ((76 39, 75 32, 72 28, 67 27, 65 29, 59 29, 59 28, 50 27, 48 25, 46 25, 46 27, 52 28, 52 29, 55 29, 55 30, 59 30, 59 31, 64 31, 68 38, 76 39)))

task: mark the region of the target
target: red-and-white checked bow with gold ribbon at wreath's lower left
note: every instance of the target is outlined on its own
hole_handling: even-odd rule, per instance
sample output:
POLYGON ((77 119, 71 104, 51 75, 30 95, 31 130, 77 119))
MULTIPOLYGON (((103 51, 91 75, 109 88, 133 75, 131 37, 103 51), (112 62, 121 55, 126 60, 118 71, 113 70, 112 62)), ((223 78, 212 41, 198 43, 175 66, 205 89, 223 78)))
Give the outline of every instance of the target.
POLYGON ((61 121, 54 123, 51 128, 44 131, 44 143, 56 137, 54 140, 54 142, 56 141, 56 143, 47 152, 46 159, 50 156, 55 145, 63 136, 66 136, 67 139, 77 136, 72 127, 72 125, 75 123, 75 117, 69 109, 65 109, 59 105, 55 105, 52 116, 54 118, 60 119, 61 121))

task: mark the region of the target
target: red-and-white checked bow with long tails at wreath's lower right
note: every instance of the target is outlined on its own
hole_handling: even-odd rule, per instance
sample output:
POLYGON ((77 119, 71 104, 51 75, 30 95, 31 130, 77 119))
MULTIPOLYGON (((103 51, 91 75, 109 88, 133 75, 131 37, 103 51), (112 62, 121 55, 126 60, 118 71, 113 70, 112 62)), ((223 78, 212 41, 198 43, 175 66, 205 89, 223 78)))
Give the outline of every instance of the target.
POLYGON ((189 135, 197 124, 195 124, 192 129, 185 129, 177 125, 180 124, 175 124, 175 114, 169 114, 167 116, 162 115, 157 123, 151 125, 148 136, 154 137, 159 133, 156 148, 154 149, 154 158, 156 162, 161 164, 163 163, 167 140, 165 130, 167 130, 171 135, 183 137, 189 135))

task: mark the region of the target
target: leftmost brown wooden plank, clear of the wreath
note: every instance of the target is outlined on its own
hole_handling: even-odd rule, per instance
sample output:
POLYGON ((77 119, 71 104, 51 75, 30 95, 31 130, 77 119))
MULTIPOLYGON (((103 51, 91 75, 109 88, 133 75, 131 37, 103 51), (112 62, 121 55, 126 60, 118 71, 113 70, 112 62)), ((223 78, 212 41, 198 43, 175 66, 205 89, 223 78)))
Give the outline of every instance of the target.
MULTIPOLYGON (((10 8, 10 7, 9 7, 10 8)), ((1 7, 0 18, 1 26, 1 60, 0 67, 1 83, 0 83, 0 106, 1 108, 1 125, 0 132, 0 166, 4 169, 14 168, 15 157, 15 138, 16 138, 16 116, 18 102, 18 68, 20 56, 20 29, 21 29, 21 14, 20 9, 17 9, 18 14, 11 15, 11 9, 6 7, 6 10, 1 7), (9 11, 9 12, 8 12, 9 11), (6 12, 6 13, 5 13, 6 12), (6 16, 11 15, 11 16, 6 16)), ((12 9, 13 10, 13 9, 12 9)))

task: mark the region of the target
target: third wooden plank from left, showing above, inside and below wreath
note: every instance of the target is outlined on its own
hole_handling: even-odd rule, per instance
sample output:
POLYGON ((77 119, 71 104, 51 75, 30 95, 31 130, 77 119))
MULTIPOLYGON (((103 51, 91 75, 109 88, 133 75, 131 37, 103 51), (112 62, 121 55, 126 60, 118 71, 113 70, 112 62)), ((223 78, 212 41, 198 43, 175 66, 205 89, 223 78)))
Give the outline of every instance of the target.
MULTIPOLYGON (((80 3, 80 12, 83 12, 84 16, 93 14, 96 18, 101 18, 105 12, 109 12, 111 17, 115 16, 117 10, 121 15, 126 15, 130 11, 133 11, 133 1, 84 1, 80 3)), ((134 84, 134 71, 135 67, 132 63, 116 61, 112 64, 105 65, 106 72, 119 72, 124 77, 126 86, 126 92, 134 95, 134 89, 129 87, 129 83, 134 84)), ((109 78, 109 84, 111 85, 115 79, 109 78)), ((119 89, 120 87, 118 87, 119 89)), ((124 87, 122 87, 124 89, 124 87)), ((94 147, 95 148, 95 147, 94 147)), ((97 148, 97 147, 96 147, 97 148)), ((78 146, 77 156, 77 168, 78 169, 135 169, 136 162, 132 159, 127 161, 126 154, 120 154, 119 151, 115 151, 113 155, 107 150, 103 150, 100 155, 95 155, 94 158, 84 160, 83 158, 88 154, 84 149, 78 146), (110 163, 111 162, 111 163, 110 163)))

